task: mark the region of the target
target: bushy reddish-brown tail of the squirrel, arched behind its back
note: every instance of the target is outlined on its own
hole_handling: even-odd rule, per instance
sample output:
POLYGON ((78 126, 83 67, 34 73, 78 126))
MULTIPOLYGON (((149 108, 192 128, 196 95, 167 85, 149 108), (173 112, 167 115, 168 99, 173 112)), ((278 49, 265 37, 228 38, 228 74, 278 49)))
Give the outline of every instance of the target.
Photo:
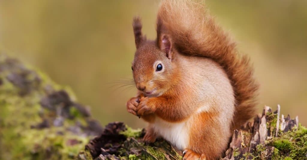
POLYGON ((236 44, 199 3, 162 0, 157 14, 157 39, 168 34, 181 53, 210 58, 225 70, 236 102, 231 128, 237 129, 255 115, 258 83, 247 55, 238 54, 236 44))

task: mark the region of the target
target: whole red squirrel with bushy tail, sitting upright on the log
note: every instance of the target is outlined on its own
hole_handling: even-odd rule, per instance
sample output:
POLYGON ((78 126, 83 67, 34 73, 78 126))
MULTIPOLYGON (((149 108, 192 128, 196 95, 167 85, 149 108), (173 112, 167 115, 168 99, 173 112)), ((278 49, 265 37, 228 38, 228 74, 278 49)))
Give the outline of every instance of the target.
POLYGON ((199 2, 162 0, 157 39, 141 29, 134 17, 138 94, 126 107, 149 123, 143 140, 162 137, 187 160, 220 158, 233 130, 255 115, 258 83, 249 58, 199 2))

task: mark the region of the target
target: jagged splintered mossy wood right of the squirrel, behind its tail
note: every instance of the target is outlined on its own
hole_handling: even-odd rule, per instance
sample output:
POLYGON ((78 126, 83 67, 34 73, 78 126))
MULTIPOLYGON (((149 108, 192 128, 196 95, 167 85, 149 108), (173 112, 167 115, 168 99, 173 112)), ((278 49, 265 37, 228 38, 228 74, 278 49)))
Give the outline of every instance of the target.
POLYGON ((279 114, 279 105, 275 112, 265 106, 253 125, 234 132, 223 159, 307 159, 307 129, 298 123, 298 117, 292 120, 282 115, 279 119, 279 114))

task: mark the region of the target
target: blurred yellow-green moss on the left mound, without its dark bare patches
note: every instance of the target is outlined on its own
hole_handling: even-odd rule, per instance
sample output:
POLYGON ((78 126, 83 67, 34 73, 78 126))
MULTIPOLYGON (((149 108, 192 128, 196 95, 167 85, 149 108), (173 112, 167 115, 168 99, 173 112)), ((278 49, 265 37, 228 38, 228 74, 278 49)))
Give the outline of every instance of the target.
MULTIPOLYGON (((5 61, 0 59, 3 67, 5 61)), ((74 123, 64 120, 64 125, 53 126, 56 117, 55 111, 44 109, 40 105, 42 97, 46 96, 46 86, 54 90, 60 88, 45 74, 37 74, 41 82, 30 84, 31 92, 20 95, 21 88, 8 81, 7 76, 12 73, 20 73, 22 69, 2 70, 0 79, 0 159, 72 159, 91 137, 77 135, 68 131, 68 127, 74 123), (50 127, 36 129, 33 126, 43 120, 49 122, 50 127), (61 134, 58 134, 58 133, 61 134), (70 143, 74 142, 74 143, 70 143)), ((34 72, 33 72, 34 73, 34 72)), ((33 81, 36 75, 29 74, 26 79, 33 81)), ((85 121, 77 111, 71 110, 78 120, 85 121)))

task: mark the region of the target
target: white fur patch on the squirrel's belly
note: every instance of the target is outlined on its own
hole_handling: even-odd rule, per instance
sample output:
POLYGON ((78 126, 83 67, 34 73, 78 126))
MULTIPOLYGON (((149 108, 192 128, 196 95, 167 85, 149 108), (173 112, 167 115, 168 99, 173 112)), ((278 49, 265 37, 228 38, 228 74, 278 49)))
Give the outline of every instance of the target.
POLYGON ((153 130, 164 139, 168 140, 178 149, 183 150, 188 147, 188 120, 180 123, 170 123, 156 117, 155 122, 150 124, 153 130))

